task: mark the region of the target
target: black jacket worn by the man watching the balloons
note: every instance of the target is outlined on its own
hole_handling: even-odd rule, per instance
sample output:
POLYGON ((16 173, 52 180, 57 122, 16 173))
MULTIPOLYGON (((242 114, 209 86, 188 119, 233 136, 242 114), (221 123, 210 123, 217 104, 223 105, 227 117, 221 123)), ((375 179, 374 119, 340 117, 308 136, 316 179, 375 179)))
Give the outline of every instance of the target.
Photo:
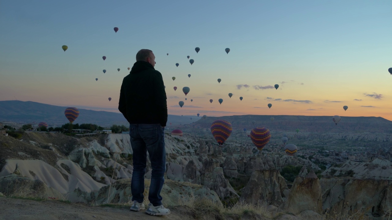
POLYGON ((167 123, 167 103, 162 74, 146 61, 134 63, 121 85, 118 110, 130 124, 167 123))

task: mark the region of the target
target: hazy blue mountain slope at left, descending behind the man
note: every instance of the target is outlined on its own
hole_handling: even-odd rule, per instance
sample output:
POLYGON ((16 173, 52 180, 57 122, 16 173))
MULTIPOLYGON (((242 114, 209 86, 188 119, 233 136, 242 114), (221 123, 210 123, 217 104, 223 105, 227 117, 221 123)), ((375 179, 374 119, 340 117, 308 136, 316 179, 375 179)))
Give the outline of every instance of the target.
MULTIPOLYGON (((66 108, 67 107, 64 106, 47 105, 32 101, 0 101, 0 122, 12 121, 15 123, 31 123, 37 125, 40 122, 46 122, 49 126, 61 126, 62 124, 69 122, 64 115, 66 108)), ((78 109, 80 114, 74 123, 91 123, 104 127, 112 126, 113 124, 129 125, 128 121, 120 113, 78 109)), ((172 123, 172 125, 189 124, 200 118, 201 117, 198 118, 196 115, 184 115, 183 117, 168 115, 167 124, 169 125, 169 122, 172 123), (190 117, 192 117, 192 120, 190 117)))

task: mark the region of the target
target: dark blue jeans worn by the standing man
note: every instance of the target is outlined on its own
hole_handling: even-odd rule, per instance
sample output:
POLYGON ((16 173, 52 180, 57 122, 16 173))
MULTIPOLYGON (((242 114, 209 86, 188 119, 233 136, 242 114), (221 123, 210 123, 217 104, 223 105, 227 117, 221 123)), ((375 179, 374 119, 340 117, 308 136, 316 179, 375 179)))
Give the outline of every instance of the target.
POLYGON ((151 184, 148 199, 153 206, 162 205, 161 189, 165 179, 166 152, 165 128, 160 124, 130 124, 129 135, 133 151, 133 173, 131 181, 132 201, 143 202, 144 174, 147 151, 151 160, 151 184))

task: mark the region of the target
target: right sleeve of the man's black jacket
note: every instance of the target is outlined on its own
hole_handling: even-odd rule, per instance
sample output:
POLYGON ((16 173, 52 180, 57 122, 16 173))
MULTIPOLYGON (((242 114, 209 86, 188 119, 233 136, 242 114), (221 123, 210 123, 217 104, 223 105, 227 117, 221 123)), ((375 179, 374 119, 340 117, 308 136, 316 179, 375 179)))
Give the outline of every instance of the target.
POLYGON ((163 84, 162 74, 159 71, 156 71, 156 73, 156 105, 160 124, 162 127, 165 127, 167 123, 167 97, 165 92, 165 85, 163 84))

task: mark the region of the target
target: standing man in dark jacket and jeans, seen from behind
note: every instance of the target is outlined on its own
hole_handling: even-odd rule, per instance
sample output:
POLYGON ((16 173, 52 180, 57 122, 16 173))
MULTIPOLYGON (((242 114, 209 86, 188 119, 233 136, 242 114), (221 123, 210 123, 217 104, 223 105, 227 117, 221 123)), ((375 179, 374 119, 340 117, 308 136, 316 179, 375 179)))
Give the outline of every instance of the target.
POLYGON ((162 74, 154 69, 155 55, 142 49, 136 54, 131 72, 121 85, 118 110, 129 122, 129 135, 133 150, 131 181, 132 211, 144 209, 144 174, 147 151, 152 173, 149 191, 149 215, 168 215, 160 195, 166 169, 164 131, 167 123, 167 103, 162 74))

